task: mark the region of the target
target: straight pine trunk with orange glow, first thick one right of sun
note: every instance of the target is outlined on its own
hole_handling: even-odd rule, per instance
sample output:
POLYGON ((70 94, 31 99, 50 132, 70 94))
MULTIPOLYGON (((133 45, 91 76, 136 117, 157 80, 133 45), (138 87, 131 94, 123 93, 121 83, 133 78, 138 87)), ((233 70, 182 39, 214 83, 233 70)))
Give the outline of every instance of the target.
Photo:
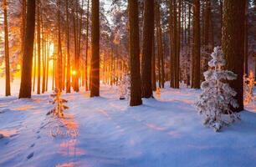
POLYGON ((92 58, 90 97, 100 96, 100 2, 92 1, 92 58))

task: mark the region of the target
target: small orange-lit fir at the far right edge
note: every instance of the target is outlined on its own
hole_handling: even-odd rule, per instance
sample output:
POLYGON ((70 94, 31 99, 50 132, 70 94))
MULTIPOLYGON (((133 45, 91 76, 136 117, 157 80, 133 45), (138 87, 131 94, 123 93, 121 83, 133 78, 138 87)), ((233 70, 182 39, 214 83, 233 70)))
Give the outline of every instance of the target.
POLYGON ((244 103, 249 104, 253 101, 254 76, 250 70, 248 78, 244 77, 244 103))

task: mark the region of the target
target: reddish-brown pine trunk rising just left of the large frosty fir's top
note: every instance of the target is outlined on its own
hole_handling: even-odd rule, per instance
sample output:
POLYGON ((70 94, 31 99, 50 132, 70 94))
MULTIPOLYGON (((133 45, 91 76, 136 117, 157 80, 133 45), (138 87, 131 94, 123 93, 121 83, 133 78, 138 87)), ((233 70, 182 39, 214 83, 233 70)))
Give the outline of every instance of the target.
POLYGON ((192 89, 200 89, 200 1, 193 3, 192 89))

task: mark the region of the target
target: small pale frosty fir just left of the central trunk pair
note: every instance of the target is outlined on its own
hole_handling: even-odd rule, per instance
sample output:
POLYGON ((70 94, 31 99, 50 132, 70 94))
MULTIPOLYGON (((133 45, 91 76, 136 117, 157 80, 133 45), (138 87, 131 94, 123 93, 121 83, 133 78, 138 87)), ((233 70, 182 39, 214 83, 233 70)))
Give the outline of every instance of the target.
POLYGON ((129 73, 126 73, 123 78, 118 81, 120 100, 130 99, 131 81, 129 73))

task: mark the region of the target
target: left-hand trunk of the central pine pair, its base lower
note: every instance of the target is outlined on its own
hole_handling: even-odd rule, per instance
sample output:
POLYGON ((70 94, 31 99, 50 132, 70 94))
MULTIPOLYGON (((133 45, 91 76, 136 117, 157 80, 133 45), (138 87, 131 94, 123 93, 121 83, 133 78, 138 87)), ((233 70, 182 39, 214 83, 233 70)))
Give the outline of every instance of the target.
POLYGON ((140 35, 138 17, 138 1, 128 0, 129 54, 131 59, 131 106, 137 106, 142 104, 140 73, 140 35))

